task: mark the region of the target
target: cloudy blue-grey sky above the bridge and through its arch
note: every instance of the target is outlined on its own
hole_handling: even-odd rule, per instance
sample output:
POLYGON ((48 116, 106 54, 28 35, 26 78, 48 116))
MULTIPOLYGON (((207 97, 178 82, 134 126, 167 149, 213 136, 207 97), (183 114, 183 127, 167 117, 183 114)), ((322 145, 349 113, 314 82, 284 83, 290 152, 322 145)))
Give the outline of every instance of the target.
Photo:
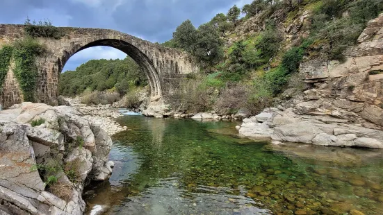
MULTIPOLYGON (((49 19, 54 26, 108 28, 150 42, 165 42, 186 19, 197 27, 217 13, 252 0, 0 0, 0 23, 49 19)), ((92 59, 124 59, 126 54, 97 46, 76 53, 63 71, 92 59)))

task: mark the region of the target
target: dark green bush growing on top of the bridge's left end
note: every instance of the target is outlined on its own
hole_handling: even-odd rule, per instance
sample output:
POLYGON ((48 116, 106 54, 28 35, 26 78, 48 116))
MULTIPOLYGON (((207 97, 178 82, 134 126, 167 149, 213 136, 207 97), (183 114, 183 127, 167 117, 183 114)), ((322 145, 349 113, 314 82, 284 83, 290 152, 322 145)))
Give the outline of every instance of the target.
POLYGON ((26 18, 24 31, 26 35, 30 37, 51 37, 58 40, 63 36, 63 32, 60 31, 60 28, 53 26, 49 20, 31 22, 31 19, 26 18))

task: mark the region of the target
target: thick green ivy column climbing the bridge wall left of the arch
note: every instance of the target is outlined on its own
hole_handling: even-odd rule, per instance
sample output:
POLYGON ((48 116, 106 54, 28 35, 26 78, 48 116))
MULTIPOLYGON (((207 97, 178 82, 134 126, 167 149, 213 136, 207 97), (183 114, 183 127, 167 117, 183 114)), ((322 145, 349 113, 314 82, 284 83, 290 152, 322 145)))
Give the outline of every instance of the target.
POLYGON ((24 101, 34 101, 34 93, 38 78, 38 68, 35 65, 37 56, 42 55, 45 46, 37 40, 26 37, 13 44, 13 58, 15 60, 15 76, 24 94, 24 101))

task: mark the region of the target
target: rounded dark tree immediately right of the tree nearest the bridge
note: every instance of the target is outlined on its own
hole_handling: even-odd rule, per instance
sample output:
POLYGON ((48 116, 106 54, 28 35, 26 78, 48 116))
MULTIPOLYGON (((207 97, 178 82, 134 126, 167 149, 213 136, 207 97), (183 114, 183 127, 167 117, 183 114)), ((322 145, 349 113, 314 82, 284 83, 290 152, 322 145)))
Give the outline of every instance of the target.
POLYGON ((202 24, 197 30, 195 56, 202 62, 213 65, 223 57, 222 40, 220 35, 211 24, 202 24))

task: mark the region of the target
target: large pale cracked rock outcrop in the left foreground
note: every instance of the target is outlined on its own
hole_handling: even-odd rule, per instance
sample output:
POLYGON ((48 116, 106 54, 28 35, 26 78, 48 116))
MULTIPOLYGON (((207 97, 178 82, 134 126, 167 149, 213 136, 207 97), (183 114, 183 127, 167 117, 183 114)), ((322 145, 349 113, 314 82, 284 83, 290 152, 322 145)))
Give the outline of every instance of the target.
POLYGON ((83 187, 111 175, 112 141, 72 107, 0 112, 0 214, 83 214, 83 187))

